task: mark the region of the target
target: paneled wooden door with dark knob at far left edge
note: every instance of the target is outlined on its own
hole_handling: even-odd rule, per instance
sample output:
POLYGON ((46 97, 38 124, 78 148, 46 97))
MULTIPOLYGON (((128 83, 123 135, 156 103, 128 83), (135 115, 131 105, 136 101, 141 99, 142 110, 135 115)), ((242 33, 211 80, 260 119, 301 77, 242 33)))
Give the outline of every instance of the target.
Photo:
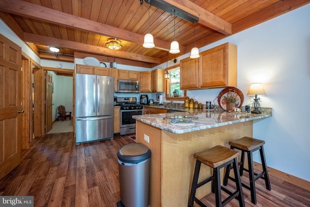
POLYGON ((21 48, 0 34, 0 179, 20 163, 21 48))

